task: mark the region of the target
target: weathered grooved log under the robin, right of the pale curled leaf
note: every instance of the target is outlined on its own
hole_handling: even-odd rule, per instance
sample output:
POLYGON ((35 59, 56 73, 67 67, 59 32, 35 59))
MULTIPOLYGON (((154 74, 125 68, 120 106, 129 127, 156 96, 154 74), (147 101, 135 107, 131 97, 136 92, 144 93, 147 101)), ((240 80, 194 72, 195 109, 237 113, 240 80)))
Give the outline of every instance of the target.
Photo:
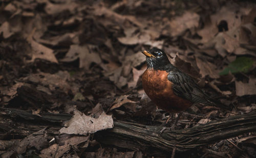
POLYGON ((187 151, 220 140, 256 131, 256 111, 249 114, 211 121, 183 130, 165 130, 162 127, 146 126, 129 122, 114 122, 114 128, 95 134, 97 141, 122 148, 164 151, 187 151))

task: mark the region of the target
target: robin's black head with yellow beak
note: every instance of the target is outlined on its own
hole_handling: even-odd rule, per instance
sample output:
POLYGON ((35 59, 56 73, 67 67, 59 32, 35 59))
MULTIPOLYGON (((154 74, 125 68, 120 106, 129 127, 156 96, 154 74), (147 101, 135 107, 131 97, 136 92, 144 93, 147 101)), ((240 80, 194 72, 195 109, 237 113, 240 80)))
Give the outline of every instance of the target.
POLYGON ((147 68, 155 70, 164 70, 166 65, 170 64, 167 55, 160 49, 153 48, 142 52, 146 56, 147 68))

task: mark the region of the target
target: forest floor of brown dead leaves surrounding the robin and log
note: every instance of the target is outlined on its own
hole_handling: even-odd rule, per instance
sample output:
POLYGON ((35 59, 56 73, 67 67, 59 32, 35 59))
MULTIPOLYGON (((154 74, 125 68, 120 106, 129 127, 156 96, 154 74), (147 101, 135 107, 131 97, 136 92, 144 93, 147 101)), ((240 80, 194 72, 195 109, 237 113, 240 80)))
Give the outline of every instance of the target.
POLYGON ((0 4, 0 156, 256 157, 255 130, 176 152, 96 139, 115 122, 161 127, 172 117, 141 84, 141 51, 153 47, 230 108, 193 105, 176 131, 255 112, 253 1, 0 4))

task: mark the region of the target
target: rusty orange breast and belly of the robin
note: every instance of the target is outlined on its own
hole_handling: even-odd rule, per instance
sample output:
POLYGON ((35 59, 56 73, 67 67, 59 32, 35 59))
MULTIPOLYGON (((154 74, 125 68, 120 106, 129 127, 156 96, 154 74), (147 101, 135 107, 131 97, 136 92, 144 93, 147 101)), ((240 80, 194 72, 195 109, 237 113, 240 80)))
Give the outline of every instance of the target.
POLYGON ((142 75, 142 86, 147 96, 162 109, 168 112, 180 112, 189 108, 193 103, 173 92, 166 71, 147 69, 142 75))

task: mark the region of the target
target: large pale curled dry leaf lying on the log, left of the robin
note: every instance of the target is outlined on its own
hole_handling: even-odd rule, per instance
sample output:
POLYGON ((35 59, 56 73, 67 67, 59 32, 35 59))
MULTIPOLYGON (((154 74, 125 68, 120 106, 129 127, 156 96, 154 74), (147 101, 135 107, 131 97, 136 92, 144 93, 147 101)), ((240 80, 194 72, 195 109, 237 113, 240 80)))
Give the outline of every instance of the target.
POLYGON ((59 130, 60 133, 86 135, 114 126, 112 116, 106 115, 104 111, 97 119, 86 116, 80 111, 74 111, 74 114, 65 124, 66 127, 59 130))

